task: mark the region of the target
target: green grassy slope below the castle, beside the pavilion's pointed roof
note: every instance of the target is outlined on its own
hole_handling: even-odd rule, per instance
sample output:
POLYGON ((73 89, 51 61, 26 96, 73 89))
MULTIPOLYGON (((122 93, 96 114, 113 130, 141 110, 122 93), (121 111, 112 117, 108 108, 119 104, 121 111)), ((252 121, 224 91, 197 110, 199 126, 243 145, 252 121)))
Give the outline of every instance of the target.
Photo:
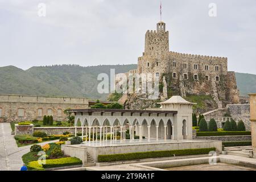
POLYGON ((193 102, 196 103, 196 105, 193 105, 193 110, 196 109, 207 109, 207 105, 205 105, 205 100, 213 100, 213 98, 211 96, 187 96, 185 97, 185 100, 189 101, 189 102, 193 102))

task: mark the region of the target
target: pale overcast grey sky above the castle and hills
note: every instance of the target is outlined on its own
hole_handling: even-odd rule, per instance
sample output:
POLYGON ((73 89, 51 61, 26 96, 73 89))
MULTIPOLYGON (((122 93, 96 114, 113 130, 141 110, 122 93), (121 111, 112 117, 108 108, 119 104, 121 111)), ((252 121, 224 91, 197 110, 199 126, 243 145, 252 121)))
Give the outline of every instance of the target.
MULTIPOLYGON (((0 67, 137 64, 159 6, 160 0, 0 0, 0 67)), ((256 74, 255 0, 162 0, 162 12, 170 51, 228 57, 229 71, 256 74)))

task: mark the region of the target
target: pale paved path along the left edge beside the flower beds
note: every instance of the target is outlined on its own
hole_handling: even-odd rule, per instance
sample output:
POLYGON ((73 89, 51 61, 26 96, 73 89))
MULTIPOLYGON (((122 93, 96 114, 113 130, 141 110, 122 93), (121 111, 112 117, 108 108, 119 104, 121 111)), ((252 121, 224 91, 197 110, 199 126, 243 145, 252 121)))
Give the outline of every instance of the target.
MULTIPOLYGON (((46 143, 54 143, 59 140, 39 143, 43 146, 46 143)), ((10 123, 0 123, 0 171, 19 171, 22 167, 22 155, 30 152, 31 146, 18 147, 11 135, 10 123)))

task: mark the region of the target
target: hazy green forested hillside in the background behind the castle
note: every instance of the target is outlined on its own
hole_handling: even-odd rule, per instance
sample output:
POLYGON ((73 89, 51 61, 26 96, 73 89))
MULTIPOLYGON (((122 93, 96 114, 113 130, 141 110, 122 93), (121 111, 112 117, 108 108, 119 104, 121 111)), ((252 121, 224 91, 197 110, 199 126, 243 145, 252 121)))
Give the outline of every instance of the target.
MULTIPOLYGON (((0 68, 0 94, 24 94, 38 96, 86 97, 106 100, 108 94, 97 92, 97 76, 100 73, 125 73, 136 69, 137 64, 98 65, 53 65, 32 67, 24 71, 14 66, 0 68)), ((242 96, 256 93, 256 75, 236 73, 237 85, 242 96)))

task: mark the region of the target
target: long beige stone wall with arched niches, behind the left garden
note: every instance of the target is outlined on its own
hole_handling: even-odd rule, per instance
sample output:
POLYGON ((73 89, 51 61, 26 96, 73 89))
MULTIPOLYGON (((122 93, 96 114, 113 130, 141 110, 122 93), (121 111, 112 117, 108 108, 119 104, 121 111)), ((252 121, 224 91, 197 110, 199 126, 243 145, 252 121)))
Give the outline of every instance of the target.
POLYGON ((0 95, 0 122, 43 120, 52 115, 64 121, 65 109, 87 109, 86 98, 0 95))

